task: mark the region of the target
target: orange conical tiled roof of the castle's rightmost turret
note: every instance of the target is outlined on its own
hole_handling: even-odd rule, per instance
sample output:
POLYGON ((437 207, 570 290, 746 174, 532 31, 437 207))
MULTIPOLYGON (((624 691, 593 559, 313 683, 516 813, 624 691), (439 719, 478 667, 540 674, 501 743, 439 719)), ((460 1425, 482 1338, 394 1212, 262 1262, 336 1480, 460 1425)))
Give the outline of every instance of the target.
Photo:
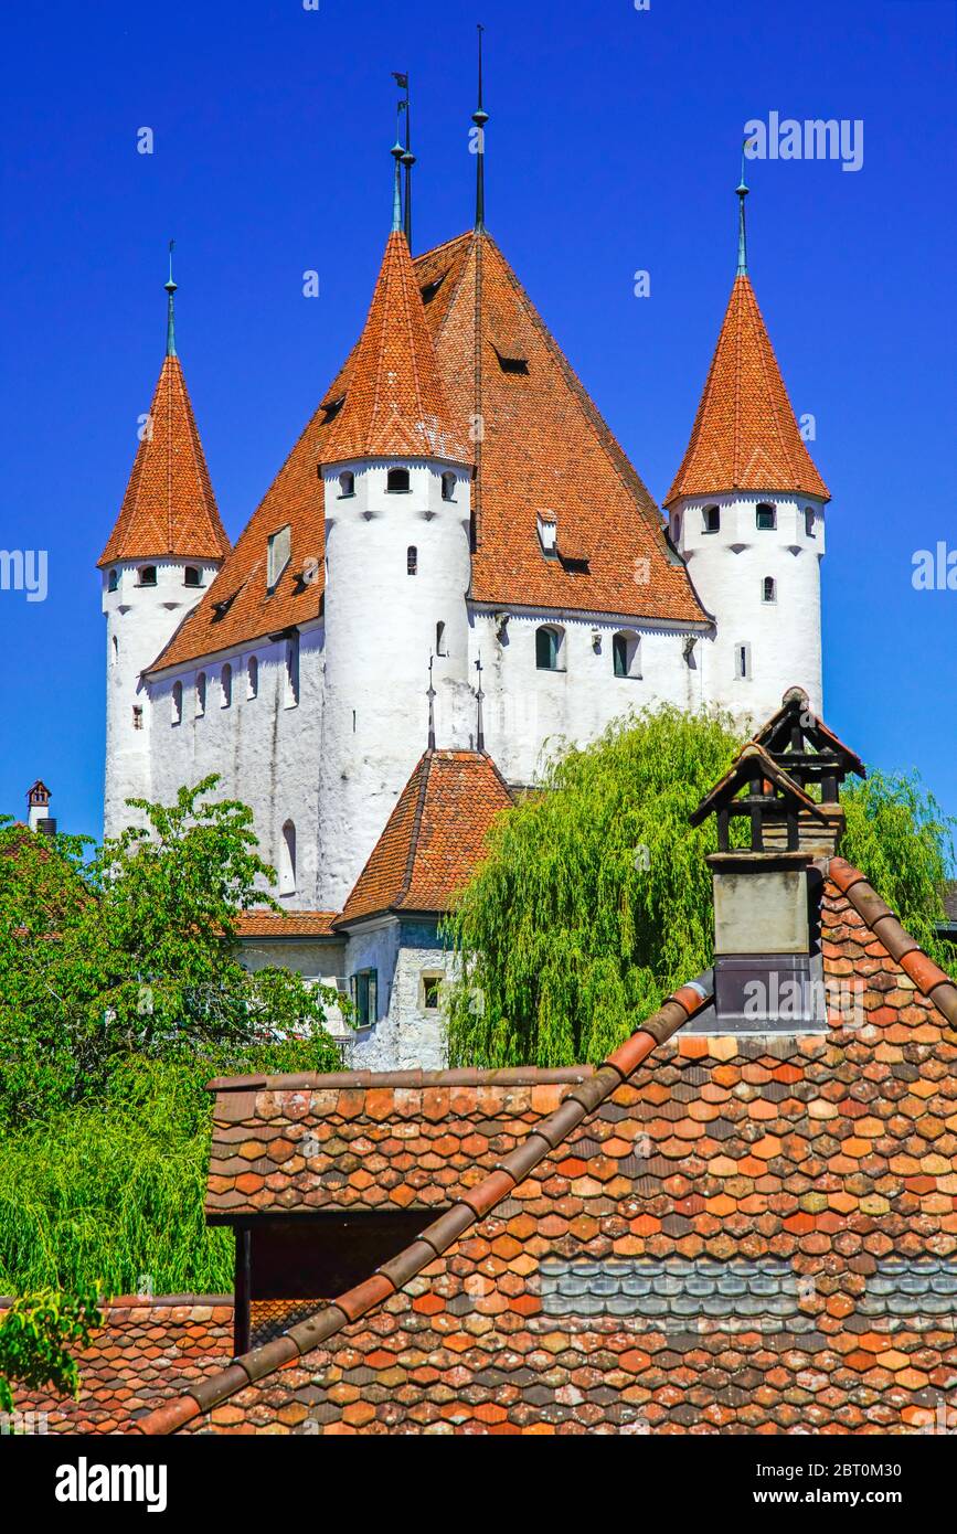
POLYGON ((801 437, 747 273, 735 279, 692 437, 664 503, 736 489, 830 500, 801 437))

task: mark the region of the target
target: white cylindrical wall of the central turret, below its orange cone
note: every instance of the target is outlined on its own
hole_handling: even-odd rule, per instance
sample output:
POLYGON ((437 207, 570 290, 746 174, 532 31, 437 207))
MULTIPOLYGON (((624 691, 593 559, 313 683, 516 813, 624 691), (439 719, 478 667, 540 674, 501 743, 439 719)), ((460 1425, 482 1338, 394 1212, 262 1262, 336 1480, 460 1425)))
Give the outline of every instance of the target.
POLYGON ((469 479, 442 500, 448 463, 376 460, 325 472, 325 719, 321 752, 319 904, 340 910, 428 741, 428 658, 436 739, 455 739, 457 695, 468 693, 469 479), (409 494, 386 491, 406 466, 409 494), (342 497, 339 474, 356 476, 342 497), (417 574, 406 551, 417 549, 417 574))

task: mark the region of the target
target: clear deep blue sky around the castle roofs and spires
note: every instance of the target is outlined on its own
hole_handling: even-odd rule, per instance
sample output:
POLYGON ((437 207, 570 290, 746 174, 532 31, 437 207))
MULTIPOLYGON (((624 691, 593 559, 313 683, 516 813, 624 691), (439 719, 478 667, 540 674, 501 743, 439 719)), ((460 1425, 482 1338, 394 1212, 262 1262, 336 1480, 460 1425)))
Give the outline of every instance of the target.
POLYGON ((863 120, 859 172, 750 167, 751 276, 834 497, 827 716, 957 813, 957 591, 911 586, 916 549, 957 549, 954 0, 8 9, 0 548, 46 548, 49 595, 0 592, 0 810, 23 813, 43 776, 60 824, 100 833, 94 566, 161 364, 167 239, 235 537, 362 322, 390 216, 393 69, 413 77, 416 249, 471 222, 479 20, 489 227, 658 500, 733 278, 742 124, 863 120))

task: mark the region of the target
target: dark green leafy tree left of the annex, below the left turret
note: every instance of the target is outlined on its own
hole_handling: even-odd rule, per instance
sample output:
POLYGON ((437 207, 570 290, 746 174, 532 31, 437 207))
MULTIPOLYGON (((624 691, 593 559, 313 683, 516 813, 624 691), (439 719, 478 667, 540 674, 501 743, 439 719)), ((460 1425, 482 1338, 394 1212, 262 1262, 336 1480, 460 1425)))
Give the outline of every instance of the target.
MULTIPOLYGON (((281 968, 248 973, 236 919, 278 910, 252 811, 130 801, 143 825, 84 862, 75 838, 0 830, 0 1115, 23 1123, 104 1091, 118 1058, 319 1034, 333 992, 281 968)), ((89 844, 87 844, 89 845, 89 844)))

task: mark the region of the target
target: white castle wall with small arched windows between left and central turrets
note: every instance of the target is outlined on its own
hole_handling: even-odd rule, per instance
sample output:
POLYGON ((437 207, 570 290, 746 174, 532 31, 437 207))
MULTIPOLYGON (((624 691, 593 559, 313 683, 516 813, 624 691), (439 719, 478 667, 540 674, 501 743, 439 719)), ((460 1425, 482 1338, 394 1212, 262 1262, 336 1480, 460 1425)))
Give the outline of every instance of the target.
MULTIPOLYGON (((319 750, 322 739, 324 632, 299 635, 299 703, 288 706, 285 640, 224 653, 202 666, 164 672, 150 683, 153 796, 169 801, 183 784, 219 773, 215 796, 253 810, 259 851, 281 868, 282 827, 296 827, 296 887, 273 893, 290 910, 325 910, 319 900, 319 750), (247 696, 247 663, 259 684, 247 696), (233 701, 222 707, 222 666, 233 667, 233 701), (196 716, 196 675, 206 672, 206 713, 196 716), (183 683, 183 723, 172 724, 172 692, 183 683)), ((330 907, 331 908, 331 907, 330 907)))

